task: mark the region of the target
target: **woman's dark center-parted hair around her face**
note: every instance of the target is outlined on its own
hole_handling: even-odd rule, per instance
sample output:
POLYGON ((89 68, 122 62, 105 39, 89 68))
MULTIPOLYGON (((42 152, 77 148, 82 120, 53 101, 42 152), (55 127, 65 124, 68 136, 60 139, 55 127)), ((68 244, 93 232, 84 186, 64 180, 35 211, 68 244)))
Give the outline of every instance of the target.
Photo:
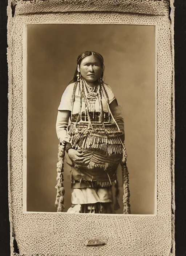
MULTIPOLYGON (((103 59, 103 56, 98 53, 98 52, 90 52, 90 51, 86 51, 86 52, 83 52, 81 53, 78 57, 77 57, 77 66, 80 65, 81 61, 87 57, 87 56, 91 56, 91 55, 94 55, 102 64, 102 69, 103 69, 103 72, 102 72, 102 76, 101 78, 103 78, 103 73, 104 73, 104 59, 103 59)), ((77 67, 76 67, 76 71, 74 72, 74 76, 73 76, 73 79, 70 81, 70 83, 74 83, 77 81, 77 74, 78 74, 78 71, 77 71, 77 67)))

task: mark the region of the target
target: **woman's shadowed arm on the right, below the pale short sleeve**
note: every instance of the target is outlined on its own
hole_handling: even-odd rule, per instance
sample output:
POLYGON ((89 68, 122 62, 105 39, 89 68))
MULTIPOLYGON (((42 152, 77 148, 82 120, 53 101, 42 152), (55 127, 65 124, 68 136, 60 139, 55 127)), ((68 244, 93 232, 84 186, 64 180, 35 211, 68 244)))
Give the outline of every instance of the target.
POLYGON ((109 107, 110 107, 110 111, 112 112, 112 115, 113 115, 118 127, 123 132, 122 142, 124 142, 124 140, 125 140, 124 119, 122 117, 122 113, 120 111, 120 107, 118 106, 117 100, 114 99, 109 104, 109 107))

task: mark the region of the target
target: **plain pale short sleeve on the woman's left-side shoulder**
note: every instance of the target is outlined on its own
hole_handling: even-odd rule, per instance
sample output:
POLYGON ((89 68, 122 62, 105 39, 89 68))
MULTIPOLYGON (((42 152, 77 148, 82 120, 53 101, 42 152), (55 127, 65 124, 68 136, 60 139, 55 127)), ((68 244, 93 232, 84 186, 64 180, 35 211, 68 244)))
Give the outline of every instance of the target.
POLYGON ((69 84, 61 97, 61 102, 58 110, 69 110, 72 111, 72 95, 73 95, 74 84, 69 84))

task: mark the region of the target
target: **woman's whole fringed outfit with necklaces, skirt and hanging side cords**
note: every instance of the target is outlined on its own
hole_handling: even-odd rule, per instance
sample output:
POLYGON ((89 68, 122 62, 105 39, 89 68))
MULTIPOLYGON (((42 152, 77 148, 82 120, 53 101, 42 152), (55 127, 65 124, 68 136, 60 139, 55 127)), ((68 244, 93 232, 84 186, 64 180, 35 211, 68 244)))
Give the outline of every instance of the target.
MULTIPOLYGON (((115 99, 112 90, 100 83, 90 88, 81 78, 70 87, 72 97, 69 100, 71 111, 67 129, 72 148, 90 152, 91 158, 85 164, 73 164, 71 171, 72 207, 68 212, 114 213, 118 206, 118 182, 116 171, 121 163, 124 184, 124 213, 130 213, 129 178, 126 167, 126 149, 123 143, 124 132, 119 128, 110 111, 109 104, 115 99), (72 105, 72 108, 71 108, 72 105), (75 111, 74 111, 75 109, 75 111), (78 109, 78 111, 77 111, 78 109), (115 205, 112 208, 112 187, 115 187, 115 205)), ((69 98, 69 88, 64 92, 58 109, 63 110, 65 98, 69 98)), ((67 141, 59 145, 57 163, 57 211, 64 211, 63 166, 67 141)))

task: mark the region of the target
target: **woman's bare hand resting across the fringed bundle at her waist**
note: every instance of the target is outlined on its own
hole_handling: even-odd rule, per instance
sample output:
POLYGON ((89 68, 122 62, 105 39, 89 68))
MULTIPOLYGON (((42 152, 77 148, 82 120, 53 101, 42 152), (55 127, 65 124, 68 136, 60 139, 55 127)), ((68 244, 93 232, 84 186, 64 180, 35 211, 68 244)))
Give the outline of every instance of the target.
POLYGON ((81 150, 76 150, 73 148, 70 148, 68 150, 68 156, 72 160, 74 164, 88 164, 90 161, 90 158, 92 156, 92 152, 84 152, 82 153, 81 150))

